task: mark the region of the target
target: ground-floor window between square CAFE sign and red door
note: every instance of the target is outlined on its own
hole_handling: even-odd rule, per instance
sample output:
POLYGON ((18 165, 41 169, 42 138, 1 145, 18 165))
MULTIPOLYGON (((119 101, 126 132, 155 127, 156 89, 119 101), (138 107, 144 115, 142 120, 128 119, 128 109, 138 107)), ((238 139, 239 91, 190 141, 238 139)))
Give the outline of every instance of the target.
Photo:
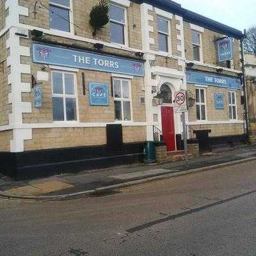
POLYGON ((131 121, 131 81, 113 78, 115 120, 131 121))

